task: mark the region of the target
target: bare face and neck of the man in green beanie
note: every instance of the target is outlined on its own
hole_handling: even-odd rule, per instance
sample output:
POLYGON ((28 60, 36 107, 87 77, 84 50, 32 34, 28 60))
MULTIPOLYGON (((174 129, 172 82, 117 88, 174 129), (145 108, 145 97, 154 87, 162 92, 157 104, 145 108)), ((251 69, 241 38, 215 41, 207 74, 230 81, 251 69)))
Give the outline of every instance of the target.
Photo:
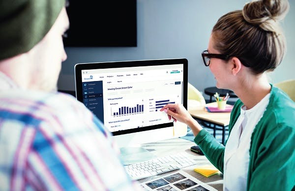
POLYGON ((68 16, 65 8, 62 8, 55 24, 34 47, 34 61, 31 74, 32 89, 42 91, 57 90, 61 62, 67 58, 63 48, 62 35, 68 27, 68 16))

